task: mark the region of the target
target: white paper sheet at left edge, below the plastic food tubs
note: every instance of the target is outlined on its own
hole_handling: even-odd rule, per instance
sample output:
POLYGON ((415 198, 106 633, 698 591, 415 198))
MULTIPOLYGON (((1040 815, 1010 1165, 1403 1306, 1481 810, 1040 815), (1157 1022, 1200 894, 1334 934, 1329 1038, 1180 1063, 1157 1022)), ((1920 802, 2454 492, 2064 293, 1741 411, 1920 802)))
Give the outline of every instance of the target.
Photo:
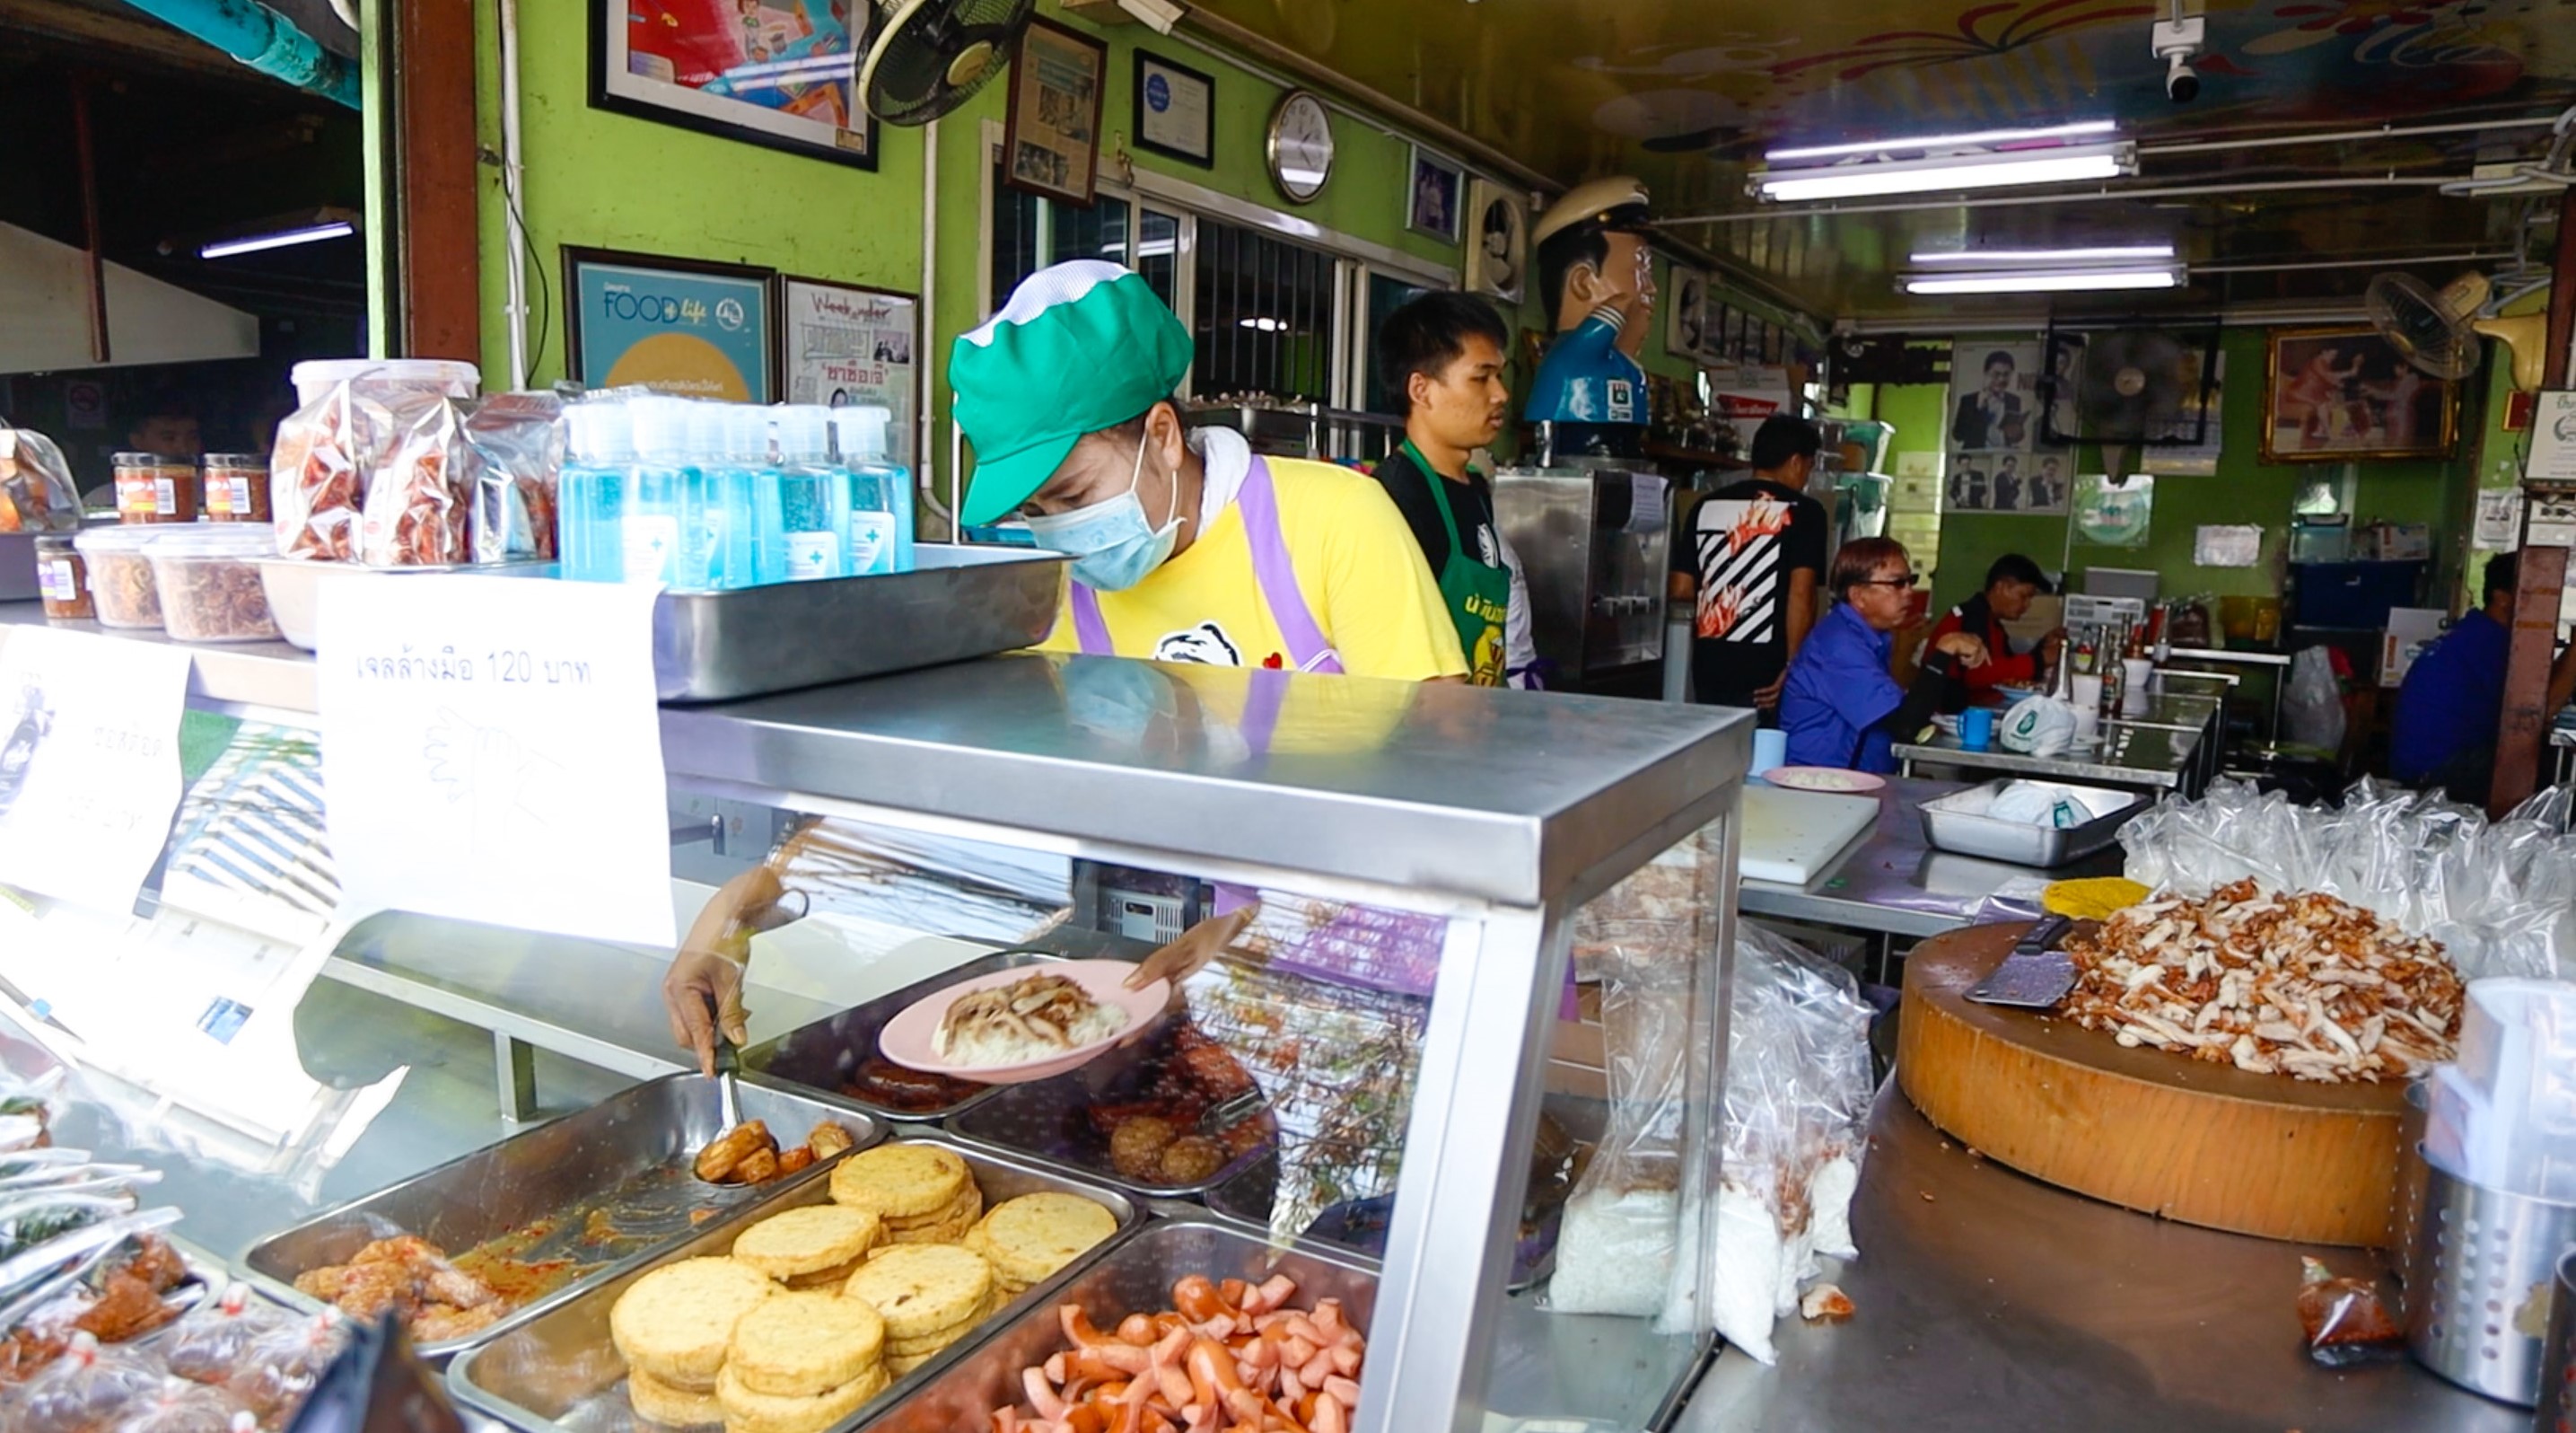
POLYGON ((178 812, 188 652, 18 626, 0 647, 0 881, 131 912, 178 812))

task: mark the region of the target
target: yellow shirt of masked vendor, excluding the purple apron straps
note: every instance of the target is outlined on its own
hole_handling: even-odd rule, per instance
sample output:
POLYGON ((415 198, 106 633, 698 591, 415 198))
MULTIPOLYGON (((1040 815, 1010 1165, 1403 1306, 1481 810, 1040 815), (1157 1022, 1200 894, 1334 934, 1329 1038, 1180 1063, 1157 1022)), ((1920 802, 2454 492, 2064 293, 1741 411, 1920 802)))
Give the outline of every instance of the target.
MULTIPOLYGON (((1270 459, 1270 485, 1298 593, 1347 675, 1466 675, 1440 588, 1386 490, 1365 474, 1298 459, 1270 459)), ((1239 503, 1144 582, 1100 593, 1100 621, 1121 657, 1296 668, 1252 572, 1239 503)), ((1069 601, 1041 649, 1082 649, 1069 601)))

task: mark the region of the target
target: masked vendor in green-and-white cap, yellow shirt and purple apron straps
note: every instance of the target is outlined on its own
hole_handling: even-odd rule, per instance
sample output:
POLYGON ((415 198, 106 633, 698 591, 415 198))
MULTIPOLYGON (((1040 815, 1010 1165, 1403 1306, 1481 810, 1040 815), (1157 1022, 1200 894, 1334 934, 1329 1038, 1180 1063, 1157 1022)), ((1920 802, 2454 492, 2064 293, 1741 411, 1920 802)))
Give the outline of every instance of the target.
POLYGON ((1072 554, 1054 652, 1360 678, 1466 675, 1412 531, 1363 474, 1188 428, 1190 332, 1136 273, 1043 268, 956 340, 963 521, 1072 554))

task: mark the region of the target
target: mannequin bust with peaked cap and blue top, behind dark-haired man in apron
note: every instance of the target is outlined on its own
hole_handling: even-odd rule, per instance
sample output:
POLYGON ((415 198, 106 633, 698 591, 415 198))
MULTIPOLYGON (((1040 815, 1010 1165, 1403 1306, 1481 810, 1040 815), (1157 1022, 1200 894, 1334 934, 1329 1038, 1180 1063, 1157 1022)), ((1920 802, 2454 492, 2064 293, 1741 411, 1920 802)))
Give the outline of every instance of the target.
POLYGON ((1543 446, 1553 454, 1636 456, 1646 433, 1646 371, 1636 353, 1654 322, 1646 186, 1592 180, 1558 198, 1530 232, 1556 343, 1522 418, 1546 425, 1543 446))

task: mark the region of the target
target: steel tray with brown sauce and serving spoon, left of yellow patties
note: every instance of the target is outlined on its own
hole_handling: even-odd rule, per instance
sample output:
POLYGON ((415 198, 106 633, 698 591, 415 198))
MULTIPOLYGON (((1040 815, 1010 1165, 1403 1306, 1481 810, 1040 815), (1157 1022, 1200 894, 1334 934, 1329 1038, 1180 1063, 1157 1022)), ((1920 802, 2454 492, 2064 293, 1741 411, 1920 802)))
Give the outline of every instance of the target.
MULTIPOLYGON (((752 1075, 742 1077, 742 1116, 768 1121, 783 1144, 799 1144, 819 1119, 837 1121, 860 1149, 884 1139, 884 1126, 840 1101, 752 1075)), ((420 1235, 448 1255, 507 1240, 500 1245, 505 1258, 546 1268, 536 1294, 500 1322, 420 1345, 422 1356, 446 1358, 670 1253, 698 1235, 706 1224, 701 1211, 742 1209, 806 1183, 819 1188, 832 1168, 832 1160, 819 1160, 765 1186, 701 1183, 690 1162, 721 1124, 716 1082, 706 1075, 647 1080, 270 1235, 242 1255, 242 1268, 252 1284, 307 1304, 294 1289, 299 1273, 348 1263, 361 1245, 394 1235, 420 1235), (564 1263, 554 1268, 554 1260, 564 1263)))

